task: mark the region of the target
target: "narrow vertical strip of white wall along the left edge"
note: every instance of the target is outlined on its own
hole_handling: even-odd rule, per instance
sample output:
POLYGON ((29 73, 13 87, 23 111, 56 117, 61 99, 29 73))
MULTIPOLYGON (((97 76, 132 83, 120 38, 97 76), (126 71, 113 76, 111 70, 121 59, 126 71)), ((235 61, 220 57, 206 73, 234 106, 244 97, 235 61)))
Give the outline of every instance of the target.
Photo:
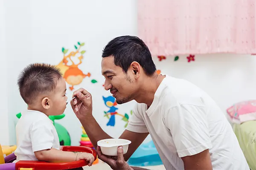
POLYGON ((0 1, 0 75, 1 75, 1 97, 0 97, 0 144, 9 144, 8 105, 7 105, 7 58, 5 45, 5 8, 0 1))

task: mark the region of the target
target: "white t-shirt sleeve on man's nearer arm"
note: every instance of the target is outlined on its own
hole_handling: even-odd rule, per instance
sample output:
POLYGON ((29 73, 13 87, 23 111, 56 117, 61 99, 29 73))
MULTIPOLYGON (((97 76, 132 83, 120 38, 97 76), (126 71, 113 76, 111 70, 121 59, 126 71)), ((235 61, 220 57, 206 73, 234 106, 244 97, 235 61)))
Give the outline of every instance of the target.
POLYGON ((178 105, 164 116, 179 157, 191 156, 212 148, 205 107, 178 105))

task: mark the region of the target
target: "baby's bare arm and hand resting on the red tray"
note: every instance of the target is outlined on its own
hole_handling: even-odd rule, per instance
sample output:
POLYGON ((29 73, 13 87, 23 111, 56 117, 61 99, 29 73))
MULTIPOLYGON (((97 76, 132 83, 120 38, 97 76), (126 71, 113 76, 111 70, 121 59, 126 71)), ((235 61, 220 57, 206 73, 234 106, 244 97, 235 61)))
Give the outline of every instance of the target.
POLYGON ((36 158, 39 161, 47 161, 47 162, 70 162, 70 161, 79 161, 81 159, 85 159, 89 161, 89 166, 93 164, 94 156, 91 153, 73 153, 58 150, 55 148, 40 150, 34 152, 36 158))

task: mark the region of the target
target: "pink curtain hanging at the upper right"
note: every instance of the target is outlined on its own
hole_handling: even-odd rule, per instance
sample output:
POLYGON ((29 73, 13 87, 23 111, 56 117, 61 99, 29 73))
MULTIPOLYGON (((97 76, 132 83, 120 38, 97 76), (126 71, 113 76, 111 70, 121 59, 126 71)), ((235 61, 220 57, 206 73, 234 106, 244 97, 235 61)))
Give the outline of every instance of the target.
POLYGON ((138 0, 152 55, 256 53, 256 0, 138 0))

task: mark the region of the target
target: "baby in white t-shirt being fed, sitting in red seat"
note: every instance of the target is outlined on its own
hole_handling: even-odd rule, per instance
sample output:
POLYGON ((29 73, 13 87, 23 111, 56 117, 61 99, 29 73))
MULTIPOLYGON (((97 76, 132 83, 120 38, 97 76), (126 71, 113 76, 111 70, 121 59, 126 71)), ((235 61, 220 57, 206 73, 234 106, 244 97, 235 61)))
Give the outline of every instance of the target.
POLYGON ((90 153, 59 150, 58 134, 50 115, 64 113, 67 105, 66 82, 58 68, 48 64, 30 64, 20 74, 18 86, 28 109, 16 125, 17 161, 69 162, 85 159, 92 165, 90 153))

